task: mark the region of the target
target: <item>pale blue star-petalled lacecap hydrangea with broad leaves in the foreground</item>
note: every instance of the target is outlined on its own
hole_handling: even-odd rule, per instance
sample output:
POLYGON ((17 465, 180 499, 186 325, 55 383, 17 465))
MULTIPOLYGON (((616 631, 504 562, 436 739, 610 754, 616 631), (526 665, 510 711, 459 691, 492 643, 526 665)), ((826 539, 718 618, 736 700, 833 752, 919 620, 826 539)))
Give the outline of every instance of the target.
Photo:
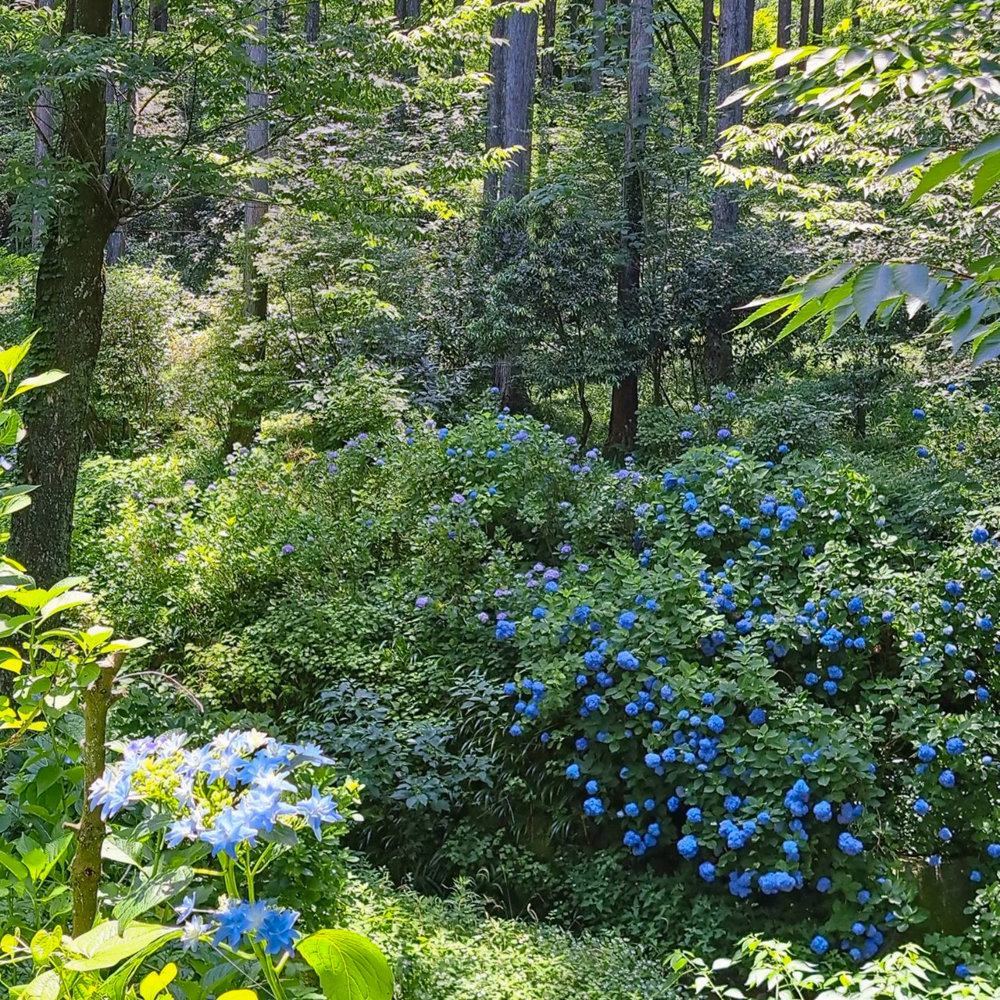
MULTIPOLYGON (((96 937, 88 932, 64 942, 57 932, 41 955, 34 939, 7 939, 7 964, 33 960, 36 971, 45 969, 29 995, 49 995, 30 993, 45 984, 69 988, 66 976, 74 971, 112 967, 133 954, 149 958, 179 941, 191 953, 184 959, 189 970, 206 954, 221 959, 211 975, 213 963, 201 965, 210 992, 262 977, 266 995, 284 1000, 302 989, 300 972, 289 976, 288 969, 298 954, 330 1000, 391 997, 392 974, 370 941, 345 930, 307 933, 297 910, 264 894, 267 869, 298 847, 300 835, 331 841, 346 829, 345 817, 360 818, 353 812, 357 784, 331 785, 333 761, 315 744, 282 743, 256 730, 227 731, 202 746, 189 742, 182 732, 133 740, 91 786, 90 805, 104 821, 142 807, 138 821, 120 826, 120 836, 109 841, 110 858, 136 865, 141 875, 125 892, 106 888, 113 919, 98 925, 96 937), (171 902, 176 926, 135 922, 171 902), (101 962, 105 950, 106 966, 76 968, 81 954, 101 962)), ((132 973, 137 968, 138 961, 132 973)), ((127 982, 122 975, 116 974, 118 987, 127 982)))

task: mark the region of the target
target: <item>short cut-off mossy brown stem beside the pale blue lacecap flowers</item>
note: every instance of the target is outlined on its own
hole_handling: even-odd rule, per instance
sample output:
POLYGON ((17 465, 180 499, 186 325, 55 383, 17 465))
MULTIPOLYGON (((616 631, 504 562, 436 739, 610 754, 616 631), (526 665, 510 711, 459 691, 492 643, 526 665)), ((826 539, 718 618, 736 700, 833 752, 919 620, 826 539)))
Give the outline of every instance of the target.
MULTIPOLYGON (((108 709, 113 699, 115 677, 121 670, 123 652, 112 653, 101 662, 97 680, 81 696, 83 710, 83 796, 104 774, 107 766, 108 709)), ((70 889, 73 894, 73 936, 89 931, 97 918, 97 891, 101 882, 101 848, 105 825, 101 807, 88 809, 76 832, 76 849, 70 863, 70 889)))

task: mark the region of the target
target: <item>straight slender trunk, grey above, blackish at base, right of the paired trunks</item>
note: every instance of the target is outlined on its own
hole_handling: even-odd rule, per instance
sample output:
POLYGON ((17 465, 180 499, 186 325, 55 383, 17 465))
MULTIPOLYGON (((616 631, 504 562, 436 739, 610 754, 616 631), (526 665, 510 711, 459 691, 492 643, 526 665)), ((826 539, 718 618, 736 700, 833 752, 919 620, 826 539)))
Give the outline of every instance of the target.
MULTIPOLYGON (((621 264, 618 268, 618 317, 631 332, 639 322, 639 289, 642 283, 643 181, 645 176, 646 116, 649 106, 649 73, 653 47, 652 0, 631 0, 628 61, 628 119, 625 123, 621 264)), ((627 340, 631 340, 628 337, 627 340)), ((634 352, 633 352, 634 353, 634 352)), ((635 443, 639 411, 639 372, 633 360, 611 390, 608 447, 635 443)))

